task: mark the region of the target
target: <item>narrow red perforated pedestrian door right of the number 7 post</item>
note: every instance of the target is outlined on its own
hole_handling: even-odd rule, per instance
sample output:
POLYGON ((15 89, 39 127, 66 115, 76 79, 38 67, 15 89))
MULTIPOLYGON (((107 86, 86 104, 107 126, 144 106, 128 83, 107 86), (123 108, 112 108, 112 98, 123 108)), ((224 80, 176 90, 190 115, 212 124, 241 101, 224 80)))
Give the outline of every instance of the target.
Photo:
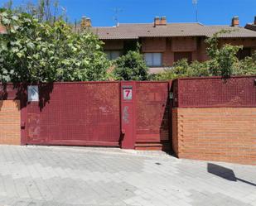
POLYGON ((168 82, 137 82, 136 113, 137 141, 168 140, 168 82))

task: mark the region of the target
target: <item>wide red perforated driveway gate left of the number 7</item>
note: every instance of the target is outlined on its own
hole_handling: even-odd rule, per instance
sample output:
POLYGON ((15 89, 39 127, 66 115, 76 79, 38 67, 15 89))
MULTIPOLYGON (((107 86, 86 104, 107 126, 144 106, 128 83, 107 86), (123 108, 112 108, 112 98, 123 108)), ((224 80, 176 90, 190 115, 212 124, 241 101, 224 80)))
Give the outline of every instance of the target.
POLYGON ((119 83, 40 86, 27 105, 27 143, 118 146, 119 83))

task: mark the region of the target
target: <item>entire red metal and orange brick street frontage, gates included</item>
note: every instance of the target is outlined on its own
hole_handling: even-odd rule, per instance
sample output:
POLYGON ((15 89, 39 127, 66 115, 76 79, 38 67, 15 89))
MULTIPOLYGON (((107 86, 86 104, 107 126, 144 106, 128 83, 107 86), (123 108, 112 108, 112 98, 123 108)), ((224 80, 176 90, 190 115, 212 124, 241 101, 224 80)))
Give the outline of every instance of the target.
POLYGON ((255 79, 40 84, 38 99, 6 84, 0 144, 173 147, 181 158, 255 165, 255 79))

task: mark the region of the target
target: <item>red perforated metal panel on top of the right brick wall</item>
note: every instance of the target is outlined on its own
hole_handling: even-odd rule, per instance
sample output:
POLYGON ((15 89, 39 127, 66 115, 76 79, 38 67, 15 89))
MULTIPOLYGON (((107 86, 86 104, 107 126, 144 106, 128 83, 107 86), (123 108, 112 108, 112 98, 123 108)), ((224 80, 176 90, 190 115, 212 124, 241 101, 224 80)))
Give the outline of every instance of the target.
POLYGON ((256 77, 178 79, 176 107, 256 107, 256 77), (178 96, 177 96, 178 94, 178 96))

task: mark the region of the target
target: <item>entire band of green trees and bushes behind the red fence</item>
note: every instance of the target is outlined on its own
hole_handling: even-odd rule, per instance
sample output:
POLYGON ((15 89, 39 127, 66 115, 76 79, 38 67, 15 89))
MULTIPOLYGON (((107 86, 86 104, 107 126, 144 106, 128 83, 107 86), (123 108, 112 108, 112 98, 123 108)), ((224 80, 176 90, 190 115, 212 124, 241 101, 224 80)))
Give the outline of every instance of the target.
MULTIPOLYGON (((180 60, 161 74, 149 75, 143 56, 129 50, 113 62, 113 71, 102 50, 103 42, 90 31, 78 34, 50 9, 51 0, 41 0, 31 14, 0 10, 7 34, 0 35, 0 80, 12 82, 92 81, 105 79, 176 79, 189 76, 256 74, 256 53, 239 61, 241 46, 221 46, 220 31, 206 40, 210 60, 188 64, 180 60), (43 16, 40 16, 43 15, 43 16), (38 17, 38 18, 35 18, 38 17)), ((12 7, 10 1, 8 7, 12 7)), ((56 2, 57 7, 57 2, 56 2)), ((32 10, 31 10, 32 11, 32 10)), ((133 46, 135 48, 135 46, 133 46)))

